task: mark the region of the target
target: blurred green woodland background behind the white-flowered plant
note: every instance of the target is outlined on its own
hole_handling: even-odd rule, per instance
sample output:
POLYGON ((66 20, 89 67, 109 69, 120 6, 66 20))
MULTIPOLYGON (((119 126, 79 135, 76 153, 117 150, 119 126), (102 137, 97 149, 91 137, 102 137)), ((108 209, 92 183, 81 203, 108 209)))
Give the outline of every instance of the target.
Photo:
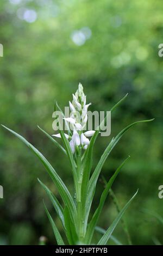
MULTIPOLYGON (((130 155, 112 187, 120 206, 139 188, 125 214, 134 245, 163 243, 163 225, 144 209, 163 216, 158 187, 162 173, 162 43, 163 5, 159 0, 1 0, 0 118, 1 123, 23 135, 53 164, 67 186, 72 177, 66 157, 37 129, 52 130, 54 101, 68 105, 81 82, 90 109, 106 111, 129 93, 112 113, 111 136, 99 137, 93 167, 112 136, 132 121, 155 118, 127 132, 104 164, 108 180, 130 155)), ((43 209, 60 227, 39 177, 57 195, 39 160, 16 137, 0 129, 0 243, 37 245, 39 237, 55 239, 43 209)), ((98 182, 92 210, 103 189, 98 182)), ((117 215, 111 197, 99 225, 107 228, 117 215)), ((128 244, 122 225, 114 235, 128 244)), ((112 243, 113 244, 113 243, 112 243)))

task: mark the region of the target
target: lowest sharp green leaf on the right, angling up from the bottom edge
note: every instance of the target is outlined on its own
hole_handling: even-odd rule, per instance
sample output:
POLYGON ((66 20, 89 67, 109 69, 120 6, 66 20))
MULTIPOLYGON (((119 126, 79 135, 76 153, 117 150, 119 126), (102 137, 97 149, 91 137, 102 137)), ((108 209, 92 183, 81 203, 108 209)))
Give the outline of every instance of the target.
MULTIPOLYGON (((138 190, 137 190, 138 191, 138 190)), ((112 224, 110 225, 110 227, 106 230, 105 234, 102 236, 102 238, 99 240, 99 242, 97 243, 97 245, 106 245, 106 243, 108 242, 112 232, 114 231, 114 229, 116 228, 118 222, 121 220, 124 212, 127 210, 128 206, 130 205, 130 203, 133 201, 133 199, 135 198, 136 193, 134 194, 133 197, 131 197, 131 199, 128 201, 128 203, 123 207, 123 209, 120 211, 120 213, 118 214, 118 216, 115 218, 114 222, 112 222, 112 224)))

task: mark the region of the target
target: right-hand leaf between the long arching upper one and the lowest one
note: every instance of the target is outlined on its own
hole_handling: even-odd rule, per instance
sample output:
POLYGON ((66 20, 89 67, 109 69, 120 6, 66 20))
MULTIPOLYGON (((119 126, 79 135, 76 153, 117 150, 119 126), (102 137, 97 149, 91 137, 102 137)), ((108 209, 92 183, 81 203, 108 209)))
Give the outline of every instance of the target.
POLYGON ((93 217, 87 227, 86 240, 89 241, 89 243, 91 242, 93 232, 94 232, 96 224, 98 222, 99 215, 102 212, 106 197, 108 197, 109 190, 110 190, 114 180, 116 179, 116 176, 118 175, 118 173, 120 173, 120 170, 122 169, 122 167, 126 163, 126 161, 129 159, 129 157, 130 156, 128 156, 127 159, 124 160, 123 163, 116 169, 115 173, 111 176, 110 180, 108 181, 108 184, 106 184, 106 187, 105 187, 105 189, 102 193, 101 199, 99 201, 98 208, 96 209, 95 214, 93 214, 93 217))

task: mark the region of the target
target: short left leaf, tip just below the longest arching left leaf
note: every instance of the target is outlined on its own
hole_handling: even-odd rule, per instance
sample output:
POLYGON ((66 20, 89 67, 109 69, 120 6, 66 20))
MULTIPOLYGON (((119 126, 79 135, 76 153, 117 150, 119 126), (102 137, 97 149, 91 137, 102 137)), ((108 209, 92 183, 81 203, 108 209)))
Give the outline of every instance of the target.
POLYGON ((52 193, 51 190, 49 190, 49 188, 43 184, 43 182, 39 179, 37 179, 40 183, 40 185, 43 187, 43 189, 46 191, 46 193, 49 196, 49 199, 51 200, 55 211, 57 212, 58 217, 60 218, 60 221, 63 225, 63 227, 65 228, 65 221, 64 221, 64 210, 62 209, 62 206, 60 205, 60 203, 58 202, 57 198, 54 196, 54 194, 52 193))

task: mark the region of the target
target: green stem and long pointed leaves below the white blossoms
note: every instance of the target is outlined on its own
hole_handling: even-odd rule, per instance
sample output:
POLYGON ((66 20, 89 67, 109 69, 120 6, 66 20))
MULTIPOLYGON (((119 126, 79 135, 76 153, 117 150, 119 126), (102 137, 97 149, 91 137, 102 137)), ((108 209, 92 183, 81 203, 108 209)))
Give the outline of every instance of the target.
MULTIPOLYGON (((120 102, 122 102, 122 100, 120 102)), ((118 106, 118 103, 115 106, 118 106)), ((114 107, 112 109, 114 109, 114 107)), ((95 144, 95 140, 97 138, 98 133, 101 131, 101 127, 105 121, 105 118, 102 121, 102 123, 99 125, 99 128, 97 129, 95 134, 92 136, 90 145, 87 148, 86 153, 84 154, 83 158, 82 158, 82 154, 81 154, 81 150, 80 150, 80 153, 78 153, 79 155, 77 156, 77 160, 76 160, 76 157, 73 156, 73 154, 72 154, 72 150, 70 148, 68 139, 65 137, 65 133, 61 129, 60 129, 60 135, 61 135, 61 139, 62 139, 62 142, 63 142, 65 148, 62 148, 62 147, 60 148, 58 143, 56 143, 52 140, 52 142, 57 144, 57 147, 62 149, 62 151, 66 150, 66 154, 68 156, 68 159, 70 160, 73 181, 74 181, 74 191, 76 194, 76 199, 74 201, 73 201, 73 198, 72 198, 70 192, 68 191, 66 185, 61 180, 60 176, 55 172, 54 168, 47 161, 47 159, 40 153, 40 151, 37 150, 32 144, 30 144, 21 135, 18 135, 18 133, 14 132, 14 131, 10 130, 8 127, 5 127, 4 125, 2 125, 5 129, 7 129, 11 133, 13 133, 16 137, 20 138, 21 141, 23 141, 33 151, 33 153, 43 163, 43 165, 47 169, 48 174, 51 176, 52 180, 54 181, 55 186, 58 188, 58 191, 59 191, 62 201, 64 203, 64 209, 62 209, 58 199, 53 195, 53 193, 49 190, 49 188, 39 180, 41 186, 44 188, 44 190, 47 192, 49 198, 51 199, 51 202, 55 208, 55 211, 57 212, 57 215, 61 220, 61 223, 64 227, 65 235, 67 237, 69 245, 77 245, 77 244, 89 245, 92 242, 93 233, 95 231, 95 227, 97 225, 99 215, 101 214, 101 211, 103 209, 105 199, 108 196, 109 190, 110 190, 112 183, 114 182, 117 174, 120 172, 122 166, 126 162, 126 160, 125 160, 121 164, 121 166, 117 168, 114 175, 112 175, 112 177, 110 178, 108 184, 106 184, 106 187, 102 193, 102 196, 101 196, 101 199, 99 202, 99 206, 96 209, 95 214, 93 215, 89 225, 87 225, 87 220, 89 217, 93 196, 95 194, 97 180, 98 180, 99 174, 101 173, 103 164, 104 164, 106 158, 108 157, 108 155, 110 154, 111 150, 114 148, 114 146, 120 140, 122 135, 128 129, 130 129, 130 127, 132 127, 133 125, 135 125, 137 123, 153 120, 153 119, 151 119, 151 120, 137 121, 133 124, 128 125, 120 133, 118 133, 118 135, 111 140, 108 147, 106 147, 103 155, 101 156, 101 159, 99 160, 99 162, 97 164, 97 167, 93 171, 91 178, 90 178, 91 167, 92 167, 93 145, 95 144), (90 152, 91 152, 91 154, 90 154, 90 152), (90 157, 88 157, 89 154, 90 154, 90 157), (82 175, 82 178, 81 178, 80 175, 78 174, 78 172, 79 172, 79 174, 85 174, 85 173, 88 173, 88 174, 82 175)), ((39 129, 40 129, 40 127, 39 127, 39 129)), ((42 132, 45 133, 48 136, 48 138, 50 138, 50 136, 45 131, 42 130, 42 132)), ((65 153, 65 151, 64 151, 64 153, 65 153)), ((137 194, 137 192, 129 200, 129 202, 124 206, 124 208, 118 213, 118 216, 116 217, 115 221, 110 225, 110 227, 106 230, 106 232, 101 237, 101 239, 97 242, 98 245, 106 245, 106 243, 110 239, 110 236, 112 235, 112 232, 116 228, 116 225, 121 220, 124 212, 128 208, 131 201, 134 199, 136 194, 137 194)), ((45 204, 44 204, 44 206, 45 206, 45 210, 46 210, 47 216, 49 218, 49 221, 51 222, 51 225, 52 225, 52 228, 54 231, 54 235, 55 235, 58 245, 64 245, 65 243, 62 240, 62 237, 59 233, 57 226, 55 225, 45 204)))

